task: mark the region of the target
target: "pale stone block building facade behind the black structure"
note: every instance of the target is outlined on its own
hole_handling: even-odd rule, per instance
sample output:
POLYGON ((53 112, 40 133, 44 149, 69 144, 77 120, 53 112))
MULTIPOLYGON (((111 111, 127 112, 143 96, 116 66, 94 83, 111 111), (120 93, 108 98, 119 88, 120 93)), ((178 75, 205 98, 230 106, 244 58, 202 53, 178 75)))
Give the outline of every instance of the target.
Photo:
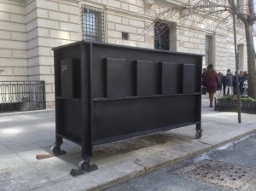
MULTIPOLYGON (((0 81, 45 80, 47 107, 54 107, 51 49, 83 39, 207 55, 204 67, 212 62, 218 72, 234 72, 232 30, 217 30, 206 21, 191 27, 158 18, 174 2, 181 1, 0 0, 0 81), (162 29, 165 36, 157 38, 162 29)), ((247 70, 242 26, 237 41, 240 69, 247 70)))

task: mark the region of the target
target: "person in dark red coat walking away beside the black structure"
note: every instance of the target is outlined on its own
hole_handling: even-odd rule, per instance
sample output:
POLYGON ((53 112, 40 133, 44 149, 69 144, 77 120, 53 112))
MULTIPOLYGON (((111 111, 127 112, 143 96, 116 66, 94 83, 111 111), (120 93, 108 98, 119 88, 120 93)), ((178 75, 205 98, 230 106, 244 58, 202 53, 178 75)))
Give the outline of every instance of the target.
POLYGON ((209 64, 207 66, 207 72, 205 72, 204 80, 207 86, 207 92, 209 93, 210 107, 213 107, 212 101, 214 94, 216 93, 217 90, 218 75, 217 72, 214 70, 212 64, 209 64))

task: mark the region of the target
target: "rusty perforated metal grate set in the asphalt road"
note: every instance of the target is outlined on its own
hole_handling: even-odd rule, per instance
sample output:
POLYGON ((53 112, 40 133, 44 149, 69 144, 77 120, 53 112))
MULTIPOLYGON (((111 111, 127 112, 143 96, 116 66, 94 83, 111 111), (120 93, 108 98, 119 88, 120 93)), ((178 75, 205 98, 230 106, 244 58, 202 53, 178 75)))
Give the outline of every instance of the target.
POLYGON ((256 170, 253 168, 210 159, 202 160, 175 172, 184 177, 192 177, 227 188, 239 188, 244 182, 256 175, 256 170))

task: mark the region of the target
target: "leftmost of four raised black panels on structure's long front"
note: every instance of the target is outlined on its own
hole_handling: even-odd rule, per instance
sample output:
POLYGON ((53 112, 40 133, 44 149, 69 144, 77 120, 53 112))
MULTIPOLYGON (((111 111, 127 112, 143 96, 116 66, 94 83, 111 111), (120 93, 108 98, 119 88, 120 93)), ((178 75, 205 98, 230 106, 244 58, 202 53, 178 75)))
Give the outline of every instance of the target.
POLYGON ((126 61, 125 59, 107 58, 105 63, 104 95, 109 99, 126 96, 126 61))

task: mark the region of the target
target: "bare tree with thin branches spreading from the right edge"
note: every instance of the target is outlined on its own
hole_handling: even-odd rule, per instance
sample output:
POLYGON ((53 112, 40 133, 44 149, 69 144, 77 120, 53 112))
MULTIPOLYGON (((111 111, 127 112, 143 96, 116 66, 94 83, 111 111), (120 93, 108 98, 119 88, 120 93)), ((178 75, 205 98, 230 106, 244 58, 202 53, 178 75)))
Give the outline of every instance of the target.
MULTIPOLYGON (((151 7, 157 14, 157 20, 172 20, 179 26, 200 26, 203 20, 212 20, 219 30, 227 30, 232 20, 232 0, 186 0, 171 3, 165 0, 165 7, 151 7)), ((248 96, 256 99, 256 62, 253 46, 253 25, 256 20, 254 0, 236 0, 236 18, 243 23, 247 42, 248 96), (241 4, 243 2, 243 4, 241 4), (241 9, 243 8, 243 9, 241 9)), ((156 21, 157 21, 156 20, 156 21)), ((156 23, 156 22, 155 22, 156 23)))

